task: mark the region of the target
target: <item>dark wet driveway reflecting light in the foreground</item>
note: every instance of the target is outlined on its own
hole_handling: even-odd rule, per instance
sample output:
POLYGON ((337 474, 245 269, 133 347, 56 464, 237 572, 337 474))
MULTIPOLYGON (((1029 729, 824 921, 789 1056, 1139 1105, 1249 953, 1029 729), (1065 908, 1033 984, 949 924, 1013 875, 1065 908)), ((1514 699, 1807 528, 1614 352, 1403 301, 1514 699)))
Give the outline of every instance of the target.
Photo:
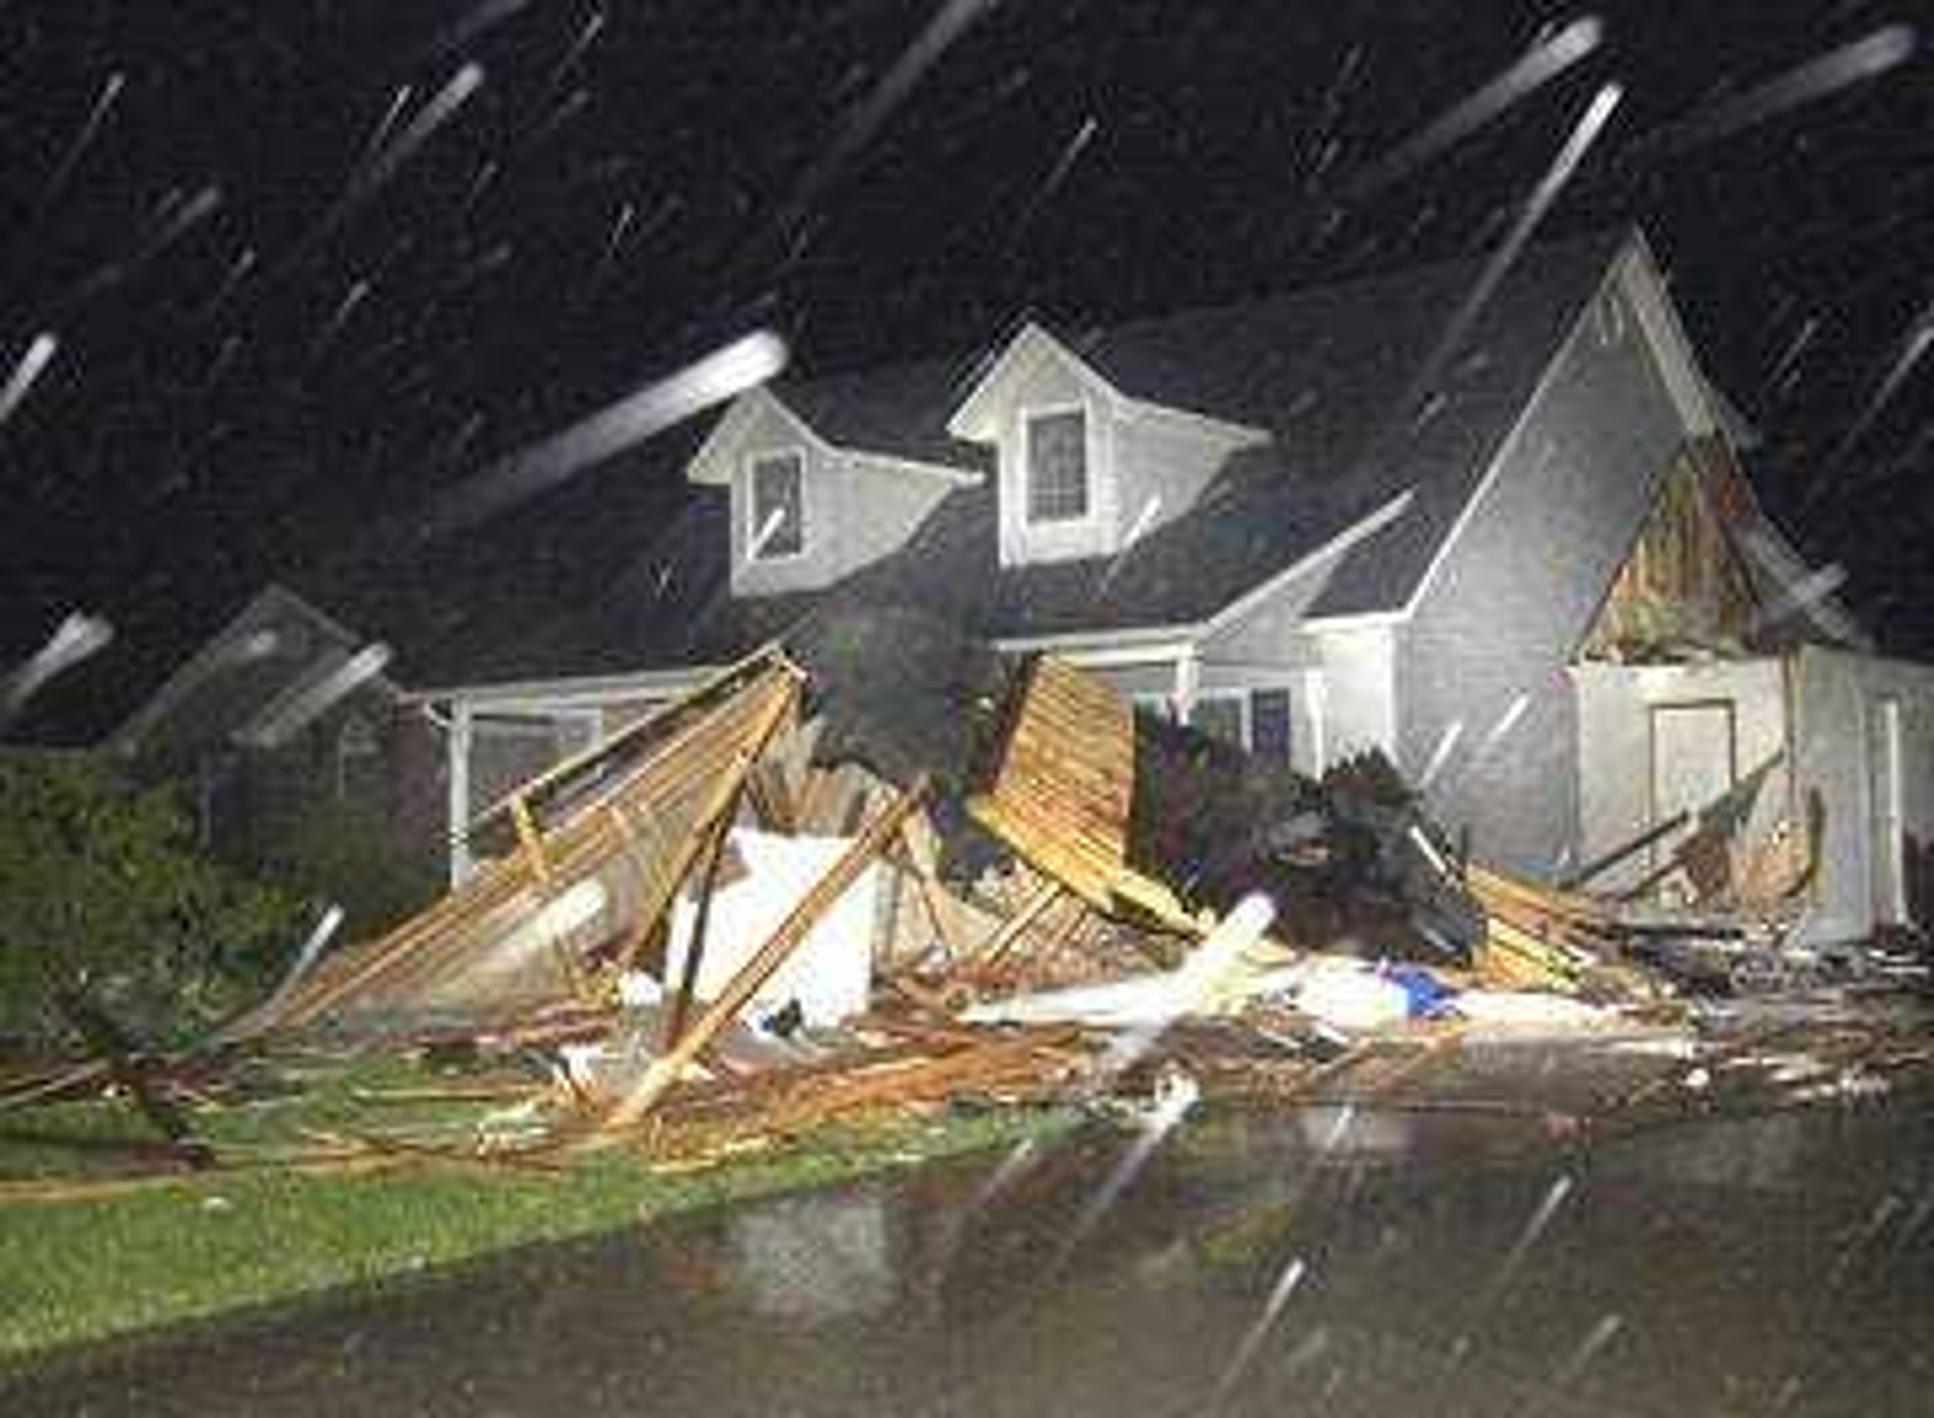
POLYGON ((70 1358, 25 1414, 1920 1414, 1934 1112, 1191 1122, 70 1358))

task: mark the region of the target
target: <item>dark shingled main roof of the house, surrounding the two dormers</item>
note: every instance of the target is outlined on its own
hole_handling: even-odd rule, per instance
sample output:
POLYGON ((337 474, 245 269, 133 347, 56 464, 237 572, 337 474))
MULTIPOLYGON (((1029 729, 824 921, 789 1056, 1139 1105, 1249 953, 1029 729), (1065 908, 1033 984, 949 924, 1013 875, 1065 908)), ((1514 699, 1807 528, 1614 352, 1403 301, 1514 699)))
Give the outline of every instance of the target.
MULTIPOLYGON (((716 664, 843 604, 903 604, 984 636, 1191 625, 1412 493, 1352 547, 1311 613, 1396 609, 1416 592, 1625 232, 1530 248, 1485 306, 1439 391, 1391 431, 1418 369, 1472 290, 1454 261, 1275 300, 1056 337, 1122 393, 1267 428, 1186 515, 1126 555, 1000 567, 992 480, 950 491, 895 553, 820 592, 731 598, 725 493, 698 489, 588 613, 493 658, 493 679, 716 664)), ((776 393, 832 443, 955 466, 984 455, 946 418, 984 356, 789 383, 776 393)), ((441 683, 482 683, 447 675, 441 683)), ((418 681, 422 677, 418 675, 418 681)))

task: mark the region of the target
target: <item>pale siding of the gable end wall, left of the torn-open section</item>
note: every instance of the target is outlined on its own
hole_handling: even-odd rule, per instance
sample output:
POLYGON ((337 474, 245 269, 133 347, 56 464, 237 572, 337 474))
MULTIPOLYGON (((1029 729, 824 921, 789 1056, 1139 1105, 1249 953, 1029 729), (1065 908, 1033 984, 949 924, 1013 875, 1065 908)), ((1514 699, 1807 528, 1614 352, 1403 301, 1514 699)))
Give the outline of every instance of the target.
POLYGON ((1398 636, 1400 766, 1437 762, 1437 818, 1534 876, 1578 851, 1567 664, 1688 433, 1630 325, 1609 344, 1592 311, 1574 325, 1398 636))

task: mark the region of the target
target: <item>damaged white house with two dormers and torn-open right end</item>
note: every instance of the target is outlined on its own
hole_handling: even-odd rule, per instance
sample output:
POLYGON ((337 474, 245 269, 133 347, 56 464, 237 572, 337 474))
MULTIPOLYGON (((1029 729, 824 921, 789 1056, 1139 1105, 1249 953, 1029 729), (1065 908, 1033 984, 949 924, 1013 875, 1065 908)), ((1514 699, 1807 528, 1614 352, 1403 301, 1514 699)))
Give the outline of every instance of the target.
POLYGON ((1671 892, 1677 836, 1748 783, 1743 851, 1814 849, 1810 938, 1909 921, 1934 669, 1874 654, 1762 515, 1638 230, 1524 251, 1420 393, 1478 269, 1025 321, 739 397, 630 575, 404 693, 443 727, 453 869, 518 778, 880 604, 1309 774, 1381 749, 1474 857, 1536 878, 1656 830, 1594 886, 1671 892))

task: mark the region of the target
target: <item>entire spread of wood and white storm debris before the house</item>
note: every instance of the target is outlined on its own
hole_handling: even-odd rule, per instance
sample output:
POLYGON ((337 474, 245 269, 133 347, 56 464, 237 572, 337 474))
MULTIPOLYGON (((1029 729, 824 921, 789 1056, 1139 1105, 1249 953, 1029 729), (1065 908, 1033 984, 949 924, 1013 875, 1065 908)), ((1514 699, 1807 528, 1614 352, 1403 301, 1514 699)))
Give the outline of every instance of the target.
MULTIPOLYGON (((1733 915, 1712 907, 1692 921, 1586 890, 1681 824, 1661 824, 1563 886, 1545 886, 1445 849, 1449 838, 1381 764, 1377 791, 1358 782, 1356 807, 1329 818, 1325 793, 1346 791, 1350 776, 1292 783, 1288 797, 1234 801, 1240 812, 1294 807, 1294 822, 1244 824, 1257 843, 1280 842, 1292 865, 1327 859, 1348 869, 1352 853, 1365 857, 1365 842, 1371 857, 1391 842, 1416 842, 1429 892, 1481 921, 1476 944, 1464 952, 1439 938, 1435 954, 1410 965, 1290 948, 1282 940, 1305 936, 1280 917, 1315 907, 1284 894, 1271 898, 1286 927, 1280 938, 1251 936, 1240 960, 1222 960, 1215 942, 1251 901, 1218 919, 1189 882, 1129 865, 1137 782, 1149 791, 1147 776, 1166 778, 1170 760, 1137 758, 1129 706, 1093 675, 1054 660, 1027 665, 971 783, 924 770, 888 782, 855 758, 822 760, 826 743, 849 735, 828 733, 812 712, 806 671, 779 648, 762 650, 516 785, 470 824, 482 865, 468 880, 377 940, 313 967, 306 952, 304 969, 240 1016, 246 1027, 164 1056, 137 1049, 87 1000, 70 1000, 87 1056, 0 1078, 0 1118, 25 1126, 37 1108, 124 1097, 161 1134, 176 1174, 188 1165, 551 1176, 584 1149, 632 1147, 658 1165, 698 1165, 834 1116, 965 1101, 1085 1107, 1108 1089, 1151 1087, 1164 1070, 1189 1074, 1211 1097, 1276 1107, 1427 1107, 1474 1031, 1530 1019, 1561 1035, 1576 1019, 1623 1018, 1617 1010, 1656 1014, 1673 987, 1654 969, 1665 960, 1661 942, 1694 932, 1756 948, 1770 917, 1739 911, 1791 901, 1818 840, 1814 822, 1737 859, 1723 894, 1733 915), (998 847, 994 865, 977 867, 973 878, 948 836, 963 820, 998 847), (774 911, 758 927, 719 898, 747 878, 781 890, 777 876, 758 878, 750 828, 832 840, 818 843, 824 855, 805 857, 805 878, 783 882, 789 896, 764 898, 774 911), (882 882, 870 936, 849 942, 870 969, 864 1008, 808 1025, 799 998, 776 1002, 762 990, 799 961, 818 967, 818 946, 806 942, 828 921, 849 931, 841 903, 874 892, 861 882, 882 882), (667 952, 675 911, 681 969, 667 952), (708 954, 733 967, 708 971, 708 954), (1191 990, 1176 1006, 1174 985, 1201 983, 1209 963, 1216 989, 1191 990), (1133 1008, 1021 1008, 1056 992, 1064 1002, 1106 996, 1133 1008), (1557 1002, 1563 1008, 1553 994, 1568 996, 1557 1002), (1526 1010, 1526 998, 1538 1008, 1526 1010), (1474 1008, 1478 1000, 1493 1002, 1489 1014, 1474 1008), (1501 1004, 1516 1008, 1499 1012, 1501 1004), (1133 1049, 1124 1050, 1129 1033, 1133 1049), (391 1078, 348 1093, 367 1118, 331 1120, 275 1145, 207 1147, 197 1114, 224 1107, 224 1079, 259 1070, 300 1091, 300 1060, 317 1041, 352 1054, 482 1060, 513 1074, 391 1078), (412 1108, 466 1105, 487 1112, 454 1128, 400 1120, 412 1108)), ((1700 812, 1692 838, 1731 842, 1750 805, 1743 787, 1700 812)), ((1216 822, 1228 814, 1228 803, 1220 807, 1216 822)), ((1685 865, 1677 849, 1673 859, 1685 865)), ((1350 932, 1352 911, 1369 919, 1392 909, 1387 892, 1352 898, 1348 871, 1329 880, 1340 886, 1321 905, 1340 913, 1336 934, 1350 932)), ((1392 880, 1400 874, 1379 886, 1392 880)), ((861 925, 851 931, 866 934, 861 925)), ((797 983, 777 989, 806 992, 797 983)), ((1752 1047, 1764 1054, 1770 1039, 1752 1047)), ((1901 1041, 1849 1029, 1818 1052, 1824 1068, 1839 1070, 1835 1078, 1934 1062, 1924 1031, 1901 1041)), ((1657 1085, 1632 1110, 1661 1091, 1671 1093, 1657 1085)), ((1456 1105, 1489 1107, 1470 1097, 1456 1105)), ((108 1180, 64 1186, 0 1174, 0 1199, 77 1196, 108 1180)))

